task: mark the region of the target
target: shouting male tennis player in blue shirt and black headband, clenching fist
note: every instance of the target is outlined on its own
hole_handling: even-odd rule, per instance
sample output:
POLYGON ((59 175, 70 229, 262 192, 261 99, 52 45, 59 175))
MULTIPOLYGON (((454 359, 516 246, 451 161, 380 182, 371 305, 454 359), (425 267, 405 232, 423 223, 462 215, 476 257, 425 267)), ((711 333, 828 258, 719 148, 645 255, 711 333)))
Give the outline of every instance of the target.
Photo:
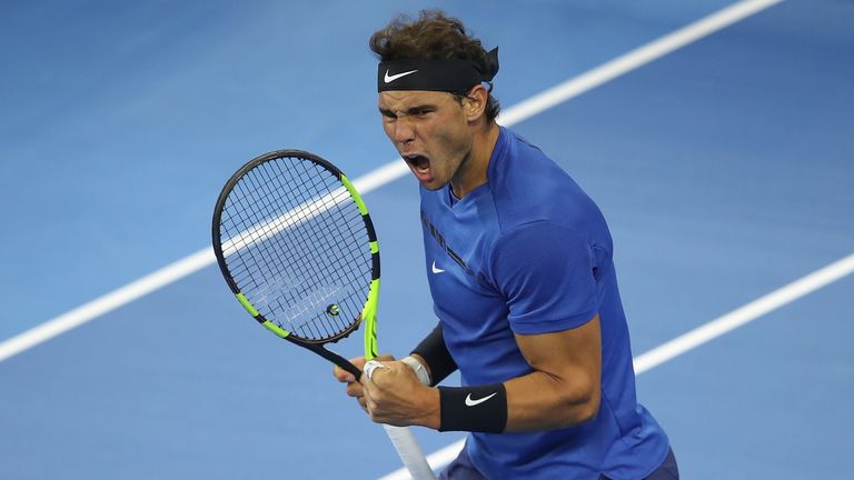
POLYGON ((439 323, 361 383, 336 369, 348 394, 377 422, 471 432, 443 478, 677 479, 635 398, 605 220, 496 123, 497 50, 436 10, 394 20, 370 48, 384 130, 420 183, 439 323), (457 369, 461 387, 435 387, 457 369))

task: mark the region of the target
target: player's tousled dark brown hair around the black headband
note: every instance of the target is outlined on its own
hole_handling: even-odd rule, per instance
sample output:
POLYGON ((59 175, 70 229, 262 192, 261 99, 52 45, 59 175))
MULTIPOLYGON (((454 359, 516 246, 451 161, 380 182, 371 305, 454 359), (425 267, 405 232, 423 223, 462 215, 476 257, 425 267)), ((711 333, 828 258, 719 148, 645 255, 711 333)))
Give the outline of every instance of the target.
MULTIPOLYGON (((379 61, 470 60, 480 71, 489 70, 489 56, 480 40, 466 32, 466 26, 438 9, 421 10, 418 20, 401 14, 370 36, 370 50, 379 61)), ((473 86, 474 87, 474 86, 473 86)), ((490 88, 491 89, 491 88, 490 88)), ((458 100, 468 92, 457 92, 458 100)), ((486 119, 495 120, 502 107, 489 93, 486 119)))

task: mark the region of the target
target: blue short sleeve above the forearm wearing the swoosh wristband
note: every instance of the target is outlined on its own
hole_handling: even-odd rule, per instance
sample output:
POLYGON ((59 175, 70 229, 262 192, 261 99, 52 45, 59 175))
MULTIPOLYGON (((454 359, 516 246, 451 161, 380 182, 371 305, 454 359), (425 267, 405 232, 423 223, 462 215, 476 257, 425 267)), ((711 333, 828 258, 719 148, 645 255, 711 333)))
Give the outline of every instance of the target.
POLYGON ((580 327, 596 314, 594 254, 567 227, 538 221, 518 227, 496 242, 493 281, 509 310, 516 333, 534 334, 580 327))

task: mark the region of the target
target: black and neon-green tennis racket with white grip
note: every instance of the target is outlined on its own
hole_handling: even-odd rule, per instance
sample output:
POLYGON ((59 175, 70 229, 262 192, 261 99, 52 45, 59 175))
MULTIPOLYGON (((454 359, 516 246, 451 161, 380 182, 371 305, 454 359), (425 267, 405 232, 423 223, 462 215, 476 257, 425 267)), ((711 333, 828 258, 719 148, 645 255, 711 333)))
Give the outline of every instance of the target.
MULTIPOLYGON (((241 167, 214 211, 214 252, 237 300, 276 336, 352 373, 327 350, 364 323, 377 356, 379 248, 365 202, 328 161, 278 150, 241 167)), ((416 480, 435 479, 408 428, 384 426, 416 480)))

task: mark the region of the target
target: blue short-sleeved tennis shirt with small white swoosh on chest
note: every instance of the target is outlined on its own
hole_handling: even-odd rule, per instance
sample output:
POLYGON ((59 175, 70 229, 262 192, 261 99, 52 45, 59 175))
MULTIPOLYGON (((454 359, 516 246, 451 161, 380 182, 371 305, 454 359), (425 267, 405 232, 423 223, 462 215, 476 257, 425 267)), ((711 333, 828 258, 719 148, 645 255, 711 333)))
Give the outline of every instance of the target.
POLYGON ((421 188, 434 310, 464 386, 532 372, 514 333, 557 332, 599 314, 602 402, 572 428, 470 433, 471 462, 490 479, 637 480, 668 440, 637 403, 613 244, 596 204, 539 149, 502 128, 488 181, 461 200, 421 188))

